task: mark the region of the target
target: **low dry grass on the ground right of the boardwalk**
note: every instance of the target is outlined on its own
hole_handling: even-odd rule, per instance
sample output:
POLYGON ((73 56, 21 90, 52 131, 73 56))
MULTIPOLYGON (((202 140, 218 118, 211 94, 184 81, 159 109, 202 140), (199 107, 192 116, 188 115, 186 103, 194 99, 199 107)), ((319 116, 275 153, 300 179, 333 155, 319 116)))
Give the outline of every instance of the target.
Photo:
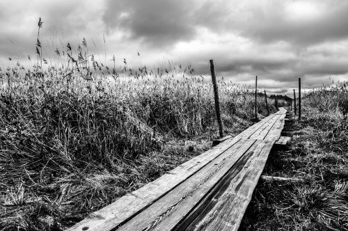
POLYGON ((285 150, 271 152, 264 175, 303 182, 259 182, 240 230, 348 230, 347 83, 306 95, 285 150))

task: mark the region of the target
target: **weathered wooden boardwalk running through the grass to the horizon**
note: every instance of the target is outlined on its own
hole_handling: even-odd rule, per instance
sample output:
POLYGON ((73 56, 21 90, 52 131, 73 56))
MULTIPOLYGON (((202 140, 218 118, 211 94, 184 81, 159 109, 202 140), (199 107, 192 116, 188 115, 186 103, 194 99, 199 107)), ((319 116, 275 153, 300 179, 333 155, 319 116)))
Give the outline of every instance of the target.
POLYGON ((68 230, 238 230, 285 113, 267 116, 68 230))

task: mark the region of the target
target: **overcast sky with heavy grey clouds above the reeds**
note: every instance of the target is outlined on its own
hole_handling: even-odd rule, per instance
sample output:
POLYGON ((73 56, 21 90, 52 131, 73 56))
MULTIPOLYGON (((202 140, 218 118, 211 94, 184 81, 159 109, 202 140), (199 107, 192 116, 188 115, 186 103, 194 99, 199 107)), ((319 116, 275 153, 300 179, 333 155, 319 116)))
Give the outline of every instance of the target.
POLYGON ((39 17, 47 47, 86 38, 110 66, 115 54, 118 65, 169 60, 208 74, 213 58, 219 77, 258 75, 279 93, 299 77, 305 88, 348 79, 347 0, 1 0, 0 66, 34 54, 39 17))

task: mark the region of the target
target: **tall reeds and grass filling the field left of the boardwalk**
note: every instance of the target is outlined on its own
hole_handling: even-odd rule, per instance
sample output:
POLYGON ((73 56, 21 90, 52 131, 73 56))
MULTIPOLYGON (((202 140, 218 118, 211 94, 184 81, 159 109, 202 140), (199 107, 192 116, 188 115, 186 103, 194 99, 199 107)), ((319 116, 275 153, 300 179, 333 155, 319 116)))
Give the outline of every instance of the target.
MULTIPOLYGON (((212 86, 191 65, 110 68, 86 39, 44 57, 38 26, 33 67, 0 69, 0 230, 61 230, 209 148, 212 86)), ((253 91, 222 79, 219 91, 236 134, 253 91)))

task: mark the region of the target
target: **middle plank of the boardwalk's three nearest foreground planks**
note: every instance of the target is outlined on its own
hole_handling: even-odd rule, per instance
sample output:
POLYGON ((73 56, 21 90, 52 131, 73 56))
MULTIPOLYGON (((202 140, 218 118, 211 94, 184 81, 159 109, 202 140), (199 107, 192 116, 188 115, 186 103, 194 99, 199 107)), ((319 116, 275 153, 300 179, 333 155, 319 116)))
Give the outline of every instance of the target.
POLYGON ((251 139, 239 141, 240 148, 230 148, 117 230, 171 230, 236 162, 244 164, 244 154, 253 143, 251 139))

